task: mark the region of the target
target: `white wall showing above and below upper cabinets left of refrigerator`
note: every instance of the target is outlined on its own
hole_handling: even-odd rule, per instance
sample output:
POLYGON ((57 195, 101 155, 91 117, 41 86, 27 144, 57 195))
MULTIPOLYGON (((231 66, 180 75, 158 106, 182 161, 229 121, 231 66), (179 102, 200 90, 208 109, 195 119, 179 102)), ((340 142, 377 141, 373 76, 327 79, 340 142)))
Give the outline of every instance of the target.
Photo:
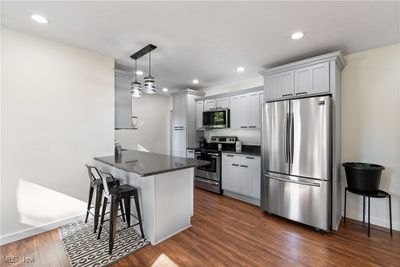
MULTIPOLYGON (((207 88, 203 88, 202 91, 206 94, 205 96, 212 96, 223 93, 230 93, 240 90, 245 90, 257 86, 263 86, 264 80, 261 75, 255 77, 237 80, 230 83, 223 83, 207 88)), ((247 130, 232 130, 232 129, 214 129, 206 130, 204 137, 210 141, 210 136, 221 135, 221 136, 237 136, 244 145, 260 145, 261 144, 261 131, 258 129, 247 129, 247 130)))

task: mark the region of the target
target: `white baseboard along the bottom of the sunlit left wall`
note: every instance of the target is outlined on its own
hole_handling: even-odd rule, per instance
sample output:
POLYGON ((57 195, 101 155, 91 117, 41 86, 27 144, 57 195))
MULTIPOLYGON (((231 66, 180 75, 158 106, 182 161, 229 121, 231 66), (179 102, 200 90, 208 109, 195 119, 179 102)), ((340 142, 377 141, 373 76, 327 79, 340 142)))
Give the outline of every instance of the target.
POLYGON ((40 226, 37 226, 37 227, 32 227, 32 228, 27 229, 27 230, 23 230, 23 231, 20 231, 20 232, 16 232, 16 233, 12 233, 12 234, 9 234, 9 235, 6 235, 6 236, 2 236, 2 237, 0 237, 0 246, 8 244, 8 243, 11 243, 11 242, 14 242, 14 241, 17 241, 17 240, 21 240, 21 239, 24 239, 24 238, 27 238, 27 237, 30 237, 30 236, 34 236, 34 235, 37 235, 37 234, 40 234, 40 233, 44 233, 44 232, 56 229, 56 228, 58 228, 60 226, 63 226, 63 225, 69 224, 69 223, 77 222, 77 221, 79 221, 79 220, 81 220, 83 218, 84 218, 84 214, 76 215, 76 216, 69 217, 69 218, 66 218, 66 219, 62 219, 62 220, 59 220, 59 221, 51 222, 49 224, 44 224, 44 225, 40 225, 40 226))

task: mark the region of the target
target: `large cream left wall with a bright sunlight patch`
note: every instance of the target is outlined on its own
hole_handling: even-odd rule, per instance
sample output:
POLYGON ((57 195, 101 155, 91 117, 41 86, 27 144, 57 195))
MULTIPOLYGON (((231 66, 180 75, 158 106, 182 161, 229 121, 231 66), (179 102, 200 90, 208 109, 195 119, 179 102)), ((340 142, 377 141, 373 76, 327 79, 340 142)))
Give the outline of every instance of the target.
POLYGON ((2 242, 84 213, 84 164, 113 153, 113 67, 112 58, 1 28, 2 242))

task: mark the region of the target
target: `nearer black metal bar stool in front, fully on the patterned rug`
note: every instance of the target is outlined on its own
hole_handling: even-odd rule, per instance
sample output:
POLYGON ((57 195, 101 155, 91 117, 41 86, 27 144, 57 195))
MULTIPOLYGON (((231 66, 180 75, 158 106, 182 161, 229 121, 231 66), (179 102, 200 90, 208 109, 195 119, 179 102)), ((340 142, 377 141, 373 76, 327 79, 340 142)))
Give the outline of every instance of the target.
MULTIPOLYGON (((104 174, 104 173, 102 173, 102 174, 104 174)), ((114 177, 112 175, 110 177, 114 180, 114 177)), ((138 194, 137 188, 127 185, 127 184, 110 188, 110 187, 108 187, 107 177, 102 175, 102 179, 103 179, 103 187, 104 187, 104 199, 103 199, 103 206, 102 206, 102 211, 101 211, 100 228, 99 228, 99 233, 97 235, 97 239, 100 239, 101 230, 103 229, 103 224, 105 222, 104 216, 106 214, 108 200, 110 200, 111 208, 110 208, 110 218, 109 218, 110 228, 109 228, 109 240, 108 240, 108 243, 109 243, 108 253, 111 254, 112 249, 114 248, 114 239, 115 239, 116 226, 117 226, 118 202, 120 202, 121 200, 124 201, 125 217, 126 217, 126 222, 128 224, 128 227, 139 225, 140 233, 141 233, 142 237, 144 238, 143 226, 142 226, 142 215, 140 213, 139 194, 138 194), (134 225, 131 225, 131 218, 130 218, 131 217, 131 197, 133 197, 135 200, 136 213, 137 213, 137 219, 138 219, 138 223, 136 223, 134 225)))

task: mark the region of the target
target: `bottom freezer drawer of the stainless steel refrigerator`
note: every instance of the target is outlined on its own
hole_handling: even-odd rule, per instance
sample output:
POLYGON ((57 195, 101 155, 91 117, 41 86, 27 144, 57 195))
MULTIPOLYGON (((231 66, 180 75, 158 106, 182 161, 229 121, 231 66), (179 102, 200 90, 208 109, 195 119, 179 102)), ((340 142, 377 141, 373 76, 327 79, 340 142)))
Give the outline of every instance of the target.
POLYGON ((330 230, 330 181, 270 172, 263 176, 265 211, 321 230, 330 230))

